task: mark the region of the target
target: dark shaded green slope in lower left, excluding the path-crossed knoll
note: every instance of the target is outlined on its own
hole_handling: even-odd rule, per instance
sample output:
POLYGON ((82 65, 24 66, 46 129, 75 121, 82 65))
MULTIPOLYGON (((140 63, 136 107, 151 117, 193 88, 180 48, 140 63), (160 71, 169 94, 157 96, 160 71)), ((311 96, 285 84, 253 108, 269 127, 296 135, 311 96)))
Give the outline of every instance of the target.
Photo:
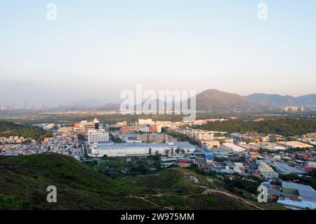
POLYGON ((54 153, 0 157, 0 208, 145 209, 154 208, 129 194, 140 188, 94 171, 72 157, 54 153), (46 202, 46 188, 57 187, 58 203, 46 202))

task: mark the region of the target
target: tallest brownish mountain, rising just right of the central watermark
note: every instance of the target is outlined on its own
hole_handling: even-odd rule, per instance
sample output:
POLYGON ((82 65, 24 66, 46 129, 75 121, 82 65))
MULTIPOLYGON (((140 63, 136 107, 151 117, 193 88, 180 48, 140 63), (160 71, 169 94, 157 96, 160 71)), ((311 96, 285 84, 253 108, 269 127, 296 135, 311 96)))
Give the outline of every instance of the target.
POLYGON ((257 103, 235 93, 226 93, 216 89, 209 89, 197 94, 197 110, 265 110, 269 106, 257 103))

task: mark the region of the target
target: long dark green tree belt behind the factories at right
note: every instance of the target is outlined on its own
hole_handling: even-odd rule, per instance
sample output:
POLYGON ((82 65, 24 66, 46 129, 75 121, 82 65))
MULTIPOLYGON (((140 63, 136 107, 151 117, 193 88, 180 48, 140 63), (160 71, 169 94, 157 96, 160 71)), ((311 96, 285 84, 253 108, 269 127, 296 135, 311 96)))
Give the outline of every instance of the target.
POLYGON ((282 136, 295 136, 303 133, 316 132, 315 119, 279 118, 264 121, 228 120, 216 121, 199 126, 207 131, 226 131, 228 133, 245 133, 255 131, 265 134, 279 134, 282 136))

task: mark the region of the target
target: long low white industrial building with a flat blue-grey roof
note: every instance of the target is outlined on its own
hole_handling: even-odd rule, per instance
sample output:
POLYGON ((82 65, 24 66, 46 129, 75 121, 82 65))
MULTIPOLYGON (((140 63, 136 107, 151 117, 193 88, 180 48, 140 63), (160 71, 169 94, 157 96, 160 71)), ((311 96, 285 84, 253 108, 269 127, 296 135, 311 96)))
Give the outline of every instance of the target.
POLYGON ((91 157, 132 157, 150 154, 166 154, 166 152, 176 153, 179 149, 185 153, 195 151, 195 146, 187 142, 176 143, 113 143, 112 141, 106 143, 94 143, 91 147, 91 157))

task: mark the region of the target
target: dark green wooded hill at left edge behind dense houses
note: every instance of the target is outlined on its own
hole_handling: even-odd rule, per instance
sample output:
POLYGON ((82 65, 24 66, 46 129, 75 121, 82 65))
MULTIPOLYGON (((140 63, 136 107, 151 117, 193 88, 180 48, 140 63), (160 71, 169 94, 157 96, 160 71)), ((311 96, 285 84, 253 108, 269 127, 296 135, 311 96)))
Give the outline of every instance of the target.
POLYGON ((24 138, 44 140, 44 138, 51 137, 53 134, 36 126, 24 126, 10 121, 0 121, 0 136, 22 136, 24 138))

